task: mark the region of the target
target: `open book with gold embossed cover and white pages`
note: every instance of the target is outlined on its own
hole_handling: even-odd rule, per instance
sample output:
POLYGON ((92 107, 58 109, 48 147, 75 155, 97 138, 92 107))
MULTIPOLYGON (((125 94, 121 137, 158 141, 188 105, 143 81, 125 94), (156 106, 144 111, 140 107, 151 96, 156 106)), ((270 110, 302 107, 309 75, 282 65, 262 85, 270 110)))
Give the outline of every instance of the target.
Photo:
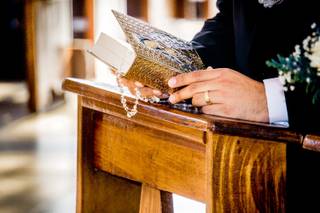
POLYGON ((171 92, 167 85, 171 77, 204 68, 190 42, 133 17, 112 12, 128 43, 101 33, 90 52, 124 78, 171 92))

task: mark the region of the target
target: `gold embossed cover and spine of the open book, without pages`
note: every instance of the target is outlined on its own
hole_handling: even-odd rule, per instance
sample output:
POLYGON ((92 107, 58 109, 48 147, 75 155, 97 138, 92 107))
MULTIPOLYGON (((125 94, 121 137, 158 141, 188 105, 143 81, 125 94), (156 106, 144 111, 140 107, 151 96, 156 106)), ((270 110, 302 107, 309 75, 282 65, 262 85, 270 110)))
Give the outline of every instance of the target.
POLYGON ((137 55, 133 66, 125 74, 127 79, 168 92, 170 77, 204 69, 201 58, 190 42, 141 20, 112 12, 137 55))

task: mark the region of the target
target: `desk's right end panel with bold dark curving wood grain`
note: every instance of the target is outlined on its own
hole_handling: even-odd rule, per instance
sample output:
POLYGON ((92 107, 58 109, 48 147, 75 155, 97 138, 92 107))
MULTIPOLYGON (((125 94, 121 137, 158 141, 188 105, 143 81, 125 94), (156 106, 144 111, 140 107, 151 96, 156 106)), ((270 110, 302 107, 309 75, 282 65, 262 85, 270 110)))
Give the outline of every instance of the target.
POLYGON ((285 212, 286 144, 207 135, 207 212, 285 212))

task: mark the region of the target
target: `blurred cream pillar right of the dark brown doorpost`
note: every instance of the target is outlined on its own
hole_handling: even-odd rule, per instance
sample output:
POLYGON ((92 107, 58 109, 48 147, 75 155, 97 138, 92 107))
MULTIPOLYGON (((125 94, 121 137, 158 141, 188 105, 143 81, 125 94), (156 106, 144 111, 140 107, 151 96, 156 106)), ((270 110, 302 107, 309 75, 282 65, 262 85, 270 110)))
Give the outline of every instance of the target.
MULTIPOLYGON (((39 70, 39 86, 60 90, 65 68, 64 51, 72 44, 71 2, 39 1, 36 7, 36 69, 39 70)), ((46 93, 45 89, 39 92, 42 95, 46 93)))

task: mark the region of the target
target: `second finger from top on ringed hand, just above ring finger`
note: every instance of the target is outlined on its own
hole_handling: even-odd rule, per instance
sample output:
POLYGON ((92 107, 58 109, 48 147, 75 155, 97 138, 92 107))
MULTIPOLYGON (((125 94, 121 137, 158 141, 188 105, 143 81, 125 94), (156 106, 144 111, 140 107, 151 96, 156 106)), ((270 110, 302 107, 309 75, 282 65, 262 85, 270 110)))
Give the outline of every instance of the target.
POLYGON ((169 101, 174 104, 182 100, 192 98, 193 95, 195 95, 196 93, 201 93, 201 92, 211 91, 211 90, 214 91, 219 89, 221 89, 221 85, 218 82, 214 83, 213 80, 193 83, 173 93, 170 96, 169 101))

